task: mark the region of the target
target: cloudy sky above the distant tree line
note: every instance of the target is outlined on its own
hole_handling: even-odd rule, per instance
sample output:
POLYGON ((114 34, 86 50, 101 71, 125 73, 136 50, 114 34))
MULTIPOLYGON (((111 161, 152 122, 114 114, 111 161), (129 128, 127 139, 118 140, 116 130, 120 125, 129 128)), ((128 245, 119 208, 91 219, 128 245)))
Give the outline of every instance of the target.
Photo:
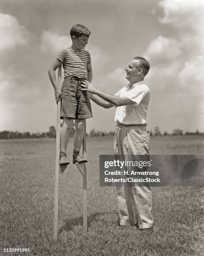
MULTIPOLYGON (((150 63, 149 130, 204 132, 203 0, 1 0, 0 131, 56 126, 47 70, 71 46, 70 28, 90 29, 92 84, 111 94, 128 84, 134 56, 150 63)), ((92 102, 87 132, 114 131, 115 108, 92 102)))

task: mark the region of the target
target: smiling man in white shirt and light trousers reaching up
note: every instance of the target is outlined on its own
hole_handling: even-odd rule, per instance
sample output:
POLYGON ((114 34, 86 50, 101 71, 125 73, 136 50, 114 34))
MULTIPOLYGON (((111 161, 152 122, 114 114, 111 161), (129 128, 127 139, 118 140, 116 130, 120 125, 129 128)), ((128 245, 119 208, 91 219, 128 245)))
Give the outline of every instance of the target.
MULTIPOLYGON (((87 81, 82 82, 82 90, 92 93, 90 98, 103 108, 117 107, 114 154, 149 155, 149 131, 146 126, 150 90, 143 81, 149 72, 149 63, 142 57, 135 57, 125 70, 129 84, 115 95, 103 92, 87 81)), ((149 184, 143 187, 122 184, 116 190, 120 225, 138 224, 142 232, 151 233, 152 192, 149 184)))

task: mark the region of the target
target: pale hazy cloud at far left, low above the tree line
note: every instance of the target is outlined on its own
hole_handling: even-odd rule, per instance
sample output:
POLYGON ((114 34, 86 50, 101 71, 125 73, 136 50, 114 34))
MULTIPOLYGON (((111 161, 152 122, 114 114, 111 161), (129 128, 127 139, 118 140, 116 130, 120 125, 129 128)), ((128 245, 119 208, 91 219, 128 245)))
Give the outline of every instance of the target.
POLYGON ((38 118, 39 115, 45 115, 42 110, 47 101, 39 87, 23 82, 18 76, 0 72, 0 98, 0 131, 38 131, 38 118))

